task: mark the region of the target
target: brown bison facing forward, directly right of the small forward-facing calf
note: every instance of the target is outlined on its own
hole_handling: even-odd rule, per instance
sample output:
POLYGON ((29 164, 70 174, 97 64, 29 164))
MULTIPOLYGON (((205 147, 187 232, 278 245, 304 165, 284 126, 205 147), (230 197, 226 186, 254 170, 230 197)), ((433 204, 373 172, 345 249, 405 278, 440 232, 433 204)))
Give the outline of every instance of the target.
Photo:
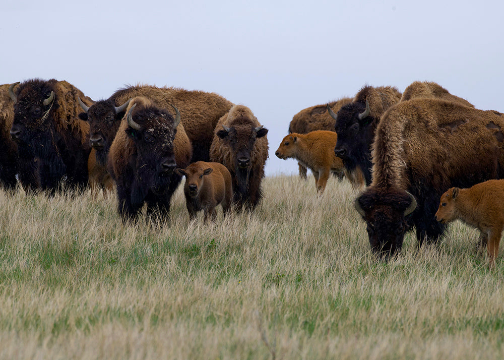
POLYGON ((233 180, 233 203, 254 209, 262 198, 261 182, 268 159, 268 129, 246 106, 234 105, 215 129, 210 159, 226 166, 233 180))

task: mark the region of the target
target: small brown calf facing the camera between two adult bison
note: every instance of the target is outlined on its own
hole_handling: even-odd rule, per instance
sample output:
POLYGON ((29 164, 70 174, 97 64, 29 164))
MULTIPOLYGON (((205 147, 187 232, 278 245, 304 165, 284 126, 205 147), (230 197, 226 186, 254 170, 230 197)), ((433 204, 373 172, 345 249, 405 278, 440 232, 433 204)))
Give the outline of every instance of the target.
POLYGON ((180 176, 185 176, 184 194, 191 220, 196 218, 196 213, 203 210, 204 220, 210 217, 215 220, 217 211, 215 207, 222 205, 224 216, 231 207, 233 199, 233 186, 231 173, 218 162, 197 161, 184 169, 175 170, 180 176))

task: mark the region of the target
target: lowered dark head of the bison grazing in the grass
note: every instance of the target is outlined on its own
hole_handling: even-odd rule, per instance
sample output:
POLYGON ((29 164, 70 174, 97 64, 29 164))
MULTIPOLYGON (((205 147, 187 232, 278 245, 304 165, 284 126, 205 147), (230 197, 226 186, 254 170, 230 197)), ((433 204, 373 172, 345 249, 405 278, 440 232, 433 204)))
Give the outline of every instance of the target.
POLYGON ((405 191, 383 193, 368 189, 354 205, 366 221, 373 253, 384 259, 396 254, 408 229, 406 216, 416 208, 415 198, 405 191))

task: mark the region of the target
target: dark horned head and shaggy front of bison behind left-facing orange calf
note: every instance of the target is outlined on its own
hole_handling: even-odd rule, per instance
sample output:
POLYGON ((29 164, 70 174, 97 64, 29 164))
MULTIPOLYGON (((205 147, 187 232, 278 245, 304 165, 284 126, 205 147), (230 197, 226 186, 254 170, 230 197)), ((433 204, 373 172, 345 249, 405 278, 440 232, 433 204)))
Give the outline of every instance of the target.
POLYGON ((334 148, 336 156, 343 160, 345 167, 352 171, 359 166, 366 178, 366 185, 371 183, 370 146, 373 141, 373 117, 370 116, 369 104, 366 101, 351 102, 340 108, 337 114, 327 105, 331 116, 336 120, 334 130, 338 141, 334 148))

